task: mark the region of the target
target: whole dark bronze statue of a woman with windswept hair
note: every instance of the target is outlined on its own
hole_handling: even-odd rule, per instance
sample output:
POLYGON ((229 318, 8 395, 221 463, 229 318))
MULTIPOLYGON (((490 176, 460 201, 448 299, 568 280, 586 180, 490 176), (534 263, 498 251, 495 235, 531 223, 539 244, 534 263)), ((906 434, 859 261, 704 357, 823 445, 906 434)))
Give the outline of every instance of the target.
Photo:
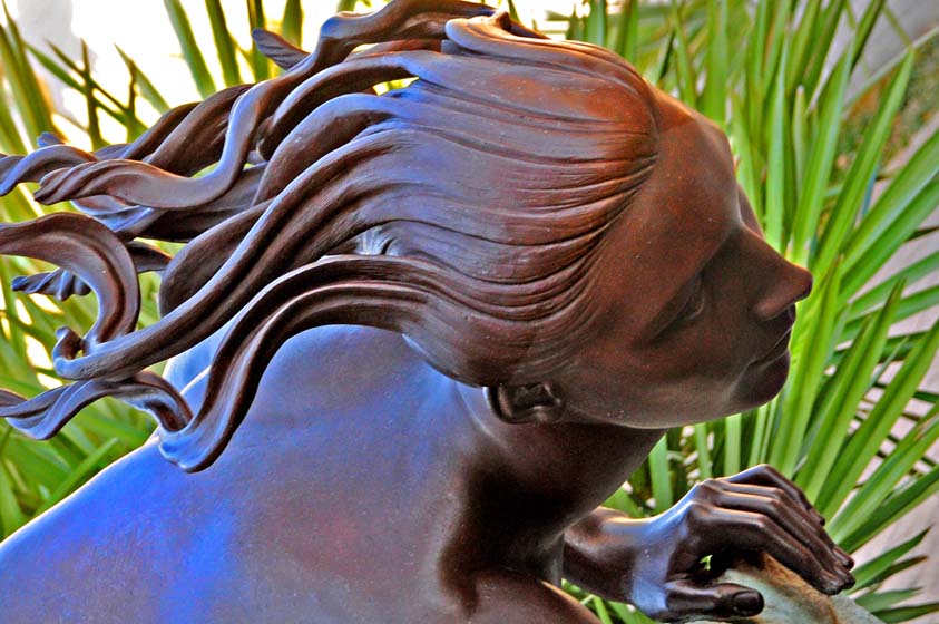
POLYGON ((59 333, 71 384, 4 391, 0 416, 45 438, 114 396, 159 423, 0 547, 4 622, 596 624, 561 577, 727 620, 762 597, 702 559, 760 552, 851 585, 769 467, 652 519, 599 507, 666 428, 788 373, 811 277, 763 241, 714 125, 472 2, 341 14, 309 55, 257 37, 282 76, 129 145, 0 163, 3 193, 41 181, 85 213, 0 226, 0 252, 61 267, 17 287, 100 302, 59 333), (154 270, 163 318, 136 329, 154 270))

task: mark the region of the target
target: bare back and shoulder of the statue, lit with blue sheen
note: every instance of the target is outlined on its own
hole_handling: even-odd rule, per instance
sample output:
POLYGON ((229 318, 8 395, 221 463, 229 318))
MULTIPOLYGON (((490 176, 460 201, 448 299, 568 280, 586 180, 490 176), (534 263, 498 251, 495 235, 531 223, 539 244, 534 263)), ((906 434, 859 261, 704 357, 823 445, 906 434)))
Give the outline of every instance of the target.
POLYGON ((52 601, 63 622, 126 622, 116 595, 137 622, 446 621, 460 588, 439 558, 472 537, 454 490, 480 443, 453 382, 400 335, 306 332, 212 468, 186 474, 148 443, 4 543, 0 586, 21 588, 4 621, 46 622, 52 601))

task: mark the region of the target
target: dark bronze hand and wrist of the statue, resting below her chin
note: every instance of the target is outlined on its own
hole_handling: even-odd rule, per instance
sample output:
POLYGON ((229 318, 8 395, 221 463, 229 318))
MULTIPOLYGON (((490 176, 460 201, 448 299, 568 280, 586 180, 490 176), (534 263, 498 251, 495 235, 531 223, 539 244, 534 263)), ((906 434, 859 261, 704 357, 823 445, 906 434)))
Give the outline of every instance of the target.
POLYGON ((579 533, 575 526, 565 552, 571 559, 565 573, 570 568, 574 574, 566 575, 663 622, 760 613, 763 597, 756 591, 713 583, 734 558, 749 553, 767 553, 825 594, 854 583, 853 562, 824 532, 821 515, 770 466, 708 479, 648 520, 598 513, 579 533))

